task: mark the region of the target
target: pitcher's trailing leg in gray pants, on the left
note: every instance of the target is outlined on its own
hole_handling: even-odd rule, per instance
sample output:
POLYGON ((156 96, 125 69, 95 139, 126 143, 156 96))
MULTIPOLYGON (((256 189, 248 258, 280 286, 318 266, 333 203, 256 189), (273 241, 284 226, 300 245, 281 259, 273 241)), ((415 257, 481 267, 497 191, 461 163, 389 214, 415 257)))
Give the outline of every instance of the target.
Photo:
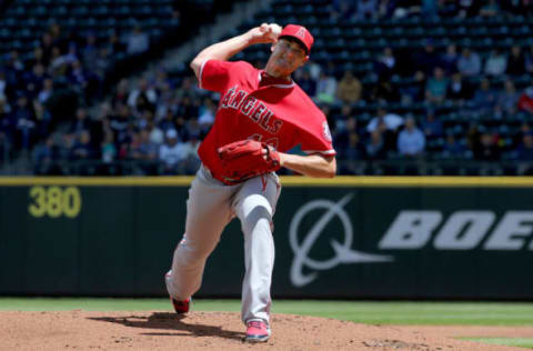
POLYGON ((205 260, 233 215, 231 188, 212 179, 203 167, 198 171, 189 189, 185 234, 165 275, 171 299, 185 301, 200 289, 205 260))

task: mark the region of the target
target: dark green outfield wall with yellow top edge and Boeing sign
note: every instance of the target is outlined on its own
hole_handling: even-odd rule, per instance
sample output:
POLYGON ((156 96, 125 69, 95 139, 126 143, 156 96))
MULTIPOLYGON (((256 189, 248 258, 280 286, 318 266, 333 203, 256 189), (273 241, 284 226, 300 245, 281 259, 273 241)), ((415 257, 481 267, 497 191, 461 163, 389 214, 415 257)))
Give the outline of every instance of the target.
MULTIPOLYGON (((163 295, 190 181, 0 178, 0 294, 163 295)), ((533 300, 533 179, 282 183, 274 297, 533 300)), ((242 278, 234 220, 198 295, 242 278)))

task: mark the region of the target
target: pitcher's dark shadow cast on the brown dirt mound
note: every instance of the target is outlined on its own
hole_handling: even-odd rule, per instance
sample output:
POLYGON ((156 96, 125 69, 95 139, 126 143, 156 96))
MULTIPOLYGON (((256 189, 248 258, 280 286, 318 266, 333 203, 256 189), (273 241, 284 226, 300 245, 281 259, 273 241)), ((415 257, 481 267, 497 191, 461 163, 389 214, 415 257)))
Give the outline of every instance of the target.
POLYGON ((158 332, 144 332, 143 335, 168 335, 168 337, 218 337, 232 340, 242 340, 243 332, 223 330, 221 327, 208 324, 189 324, 183 322, 184 315, 168 312, 154 312, 151 315, 128 315, 128 317, 90 317, 88 319, 119 323, 125 327, 158 329, 158 332), (169 330, 164 332, 161 330, 169 330), (170 332, 180 331, 180 332, 170 332))

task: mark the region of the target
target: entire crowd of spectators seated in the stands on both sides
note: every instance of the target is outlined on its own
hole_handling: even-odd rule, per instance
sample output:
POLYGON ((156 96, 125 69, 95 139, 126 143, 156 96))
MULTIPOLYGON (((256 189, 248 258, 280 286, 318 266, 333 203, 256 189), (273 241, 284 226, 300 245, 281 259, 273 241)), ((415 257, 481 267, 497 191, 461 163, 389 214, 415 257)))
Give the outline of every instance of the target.
MULTIPOLYGON (((527 1, 334 0, 331 17, 375 19, 408 16, 405 11, 429 18, 489 17, 494 11, 526 14, 530 8, 527 1)), ((155 68, 142 79, 120 80, 110 96, 102 93, 115 53, 138 54, 149 46, 139 27, 100 42, 91 34, 63 34, 52 23, 32 54, 22 60, 11 52, 0 71, 0 149, 27 152, 39 174, 64 173, 61 162, 74 161, 89 164, 78 170, 88 174, 113 173, 107 166, 120 162, 134 164, 129 171, 134 174, 193 173, 218 96, 199 89, 192 72, 173 76, 155 68), (49 100, 61 83, 83 99, 58 121, 49 100)), ((294 74, 328 117, 341 172, 354 172, 350 164, 363 160, 533 161, 529 118, 515 133, 502 132, 506 118, 519 112, 533 117, 533 79, 525 89, 514 84, 515 78, 533 77, 533 47, 481 54, 455 43, 438 48, 426 38, 420 50, 386 47, 372 60, 373 69, 361 76, 339 72, 334 61, 318 64, 311 56, 294 74), (389 109, 391 103, 423 106, 423 113, 389 109), (366 119, 359 109, 365 104, 378 107, 366 119), (500 122, 475 118, 446 123, 442 107, 500 122)))

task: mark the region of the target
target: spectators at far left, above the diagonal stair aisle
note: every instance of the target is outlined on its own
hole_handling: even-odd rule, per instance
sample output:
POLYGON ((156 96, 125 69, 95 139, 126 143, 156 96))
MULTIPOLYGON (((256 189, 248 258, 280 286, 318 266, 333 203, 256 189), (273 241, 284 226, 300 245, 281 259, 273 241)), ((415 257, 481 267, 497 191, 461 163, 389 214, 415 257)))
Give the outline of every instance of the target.
POLYGON ((142 54, 150 47, 149 36, 139 26, 120 37, 113 30, 108 33, 102 39, 93 32, 64 32, 52 20, 30 52, 13 50, 3 58, 0 160, 31 152, 36 160, 61 159, 66 157, 66 144, 72 147, 69 159, 97 154, 87 148, 88 136, 81 132, 88 123, 87 111, 70 111, 101 100, 117 61, 142 54), (60 141, 52 136, 69 123, 72 130, 60 141), (53 152, 46 151, 47 146, 53 152))

